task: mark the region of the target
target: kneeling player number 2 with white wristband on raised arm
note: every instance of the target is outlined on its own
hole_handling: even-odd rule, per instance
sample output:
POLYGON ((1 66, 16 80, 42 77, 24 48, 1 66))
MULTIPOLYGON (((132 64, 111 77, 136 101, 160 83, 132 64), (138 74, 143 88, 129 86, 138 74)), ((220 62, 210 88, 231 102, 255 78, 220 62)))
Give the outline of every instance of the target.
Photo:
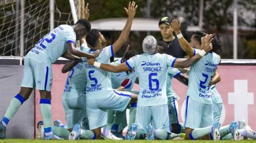
MULTIPOLYGON (((181 47, 189 57, 195 55, 204 46, 203 43, 200 43, 199 49, 195 49, 189 45, 180 33, 180 23, 176 19, 172 21, 171 25, 177 38, 179 38, 181 47)), ((212 46, 216 50, 220 47, 220 43, 216 35, 213 35, 213 38, 212 46)), ((215 122, 212 125, 212 98, 210 89, 210 81, 219 63, 219 55, 211 51, 193 65, 189 71, 185 111, 186 139, 195 140, 208 134, 210 134, 213 140, 219 140, 220 138, 219 122, 215 122)))

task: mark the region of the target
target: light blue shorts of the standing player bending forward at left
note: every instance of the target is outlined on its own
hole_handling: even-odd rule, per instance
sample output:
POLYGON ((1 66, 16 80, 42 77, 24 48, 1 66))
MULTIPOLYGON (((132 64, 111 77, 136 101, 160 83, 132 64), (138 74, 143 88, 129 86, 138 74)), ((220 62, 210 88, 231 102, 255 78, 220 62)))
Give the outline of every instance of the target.
POLYGON ((51 92, 52 77, 52 63, 50 60, 38 62, 29 57, 25 58, 21 87, 33 89, 36 87, 37 90, 51 92))

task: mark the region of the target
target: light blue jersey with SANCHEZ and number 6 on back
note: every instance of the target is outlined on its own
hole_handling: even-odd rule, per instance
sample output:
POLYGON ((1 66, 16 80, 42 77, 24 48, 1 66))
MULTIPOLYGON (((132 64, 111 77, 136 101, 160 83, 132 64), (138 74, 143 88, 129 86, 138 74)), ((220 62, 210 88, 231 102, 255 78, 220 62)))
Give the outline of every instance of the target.
POLYGON ((167 54, 149 55, 143 53, 126 61, 130 69, 135 69, 139 78, 138 106, 157 106, 167 104, 166 76, 169 66, 176 58, 167 54))

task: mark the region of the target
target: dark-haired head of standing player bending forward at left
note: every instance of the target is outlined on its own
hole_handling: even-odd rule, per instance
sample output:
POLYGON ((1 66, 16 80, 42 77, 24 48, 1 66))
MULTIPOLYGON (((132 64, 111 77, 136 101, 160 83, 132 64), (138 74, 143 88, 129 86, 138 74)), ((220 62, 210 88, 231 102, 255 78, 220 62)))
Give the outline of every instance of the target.
POLYGON ((91 30, 91 23, 87 19, 78 19, 75 23, 76 39, 82 39, 91 30))

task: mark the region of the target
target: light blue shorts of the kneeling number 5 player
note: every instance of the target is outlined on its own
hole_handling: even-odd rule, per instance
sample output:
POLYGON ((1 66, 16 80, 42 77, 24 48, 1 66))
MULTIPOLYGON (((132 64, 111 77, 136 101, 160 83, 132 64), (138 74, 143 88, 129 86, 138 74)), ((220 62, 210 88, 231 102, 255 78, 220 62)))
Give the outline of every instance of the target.
POLYGON ((107 125, 107 109, 123 111, 131 100, 130 92, 116 91, 111 96, 87 99, 87 115, 90 130, 107 125))

